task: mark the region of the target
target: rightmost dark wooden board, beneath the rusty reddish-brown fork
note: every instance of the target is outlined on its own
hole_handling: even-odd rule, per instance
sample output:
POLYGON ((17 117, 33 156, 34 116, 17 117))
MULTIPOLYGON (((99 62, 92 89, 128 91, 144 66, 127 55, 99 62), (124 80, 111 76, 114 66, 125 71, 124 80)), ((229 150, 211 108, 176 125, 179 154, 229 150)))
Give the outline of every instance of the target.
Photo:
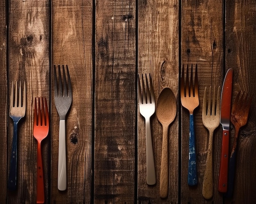
MULTIPOLYGON (((240 90, 253 96, 247 124, 240 129, 237 144, 233 197, 225 203, 254 203, 256 200, 256 2, 226 1, 226 68, 233 68, 233 103, 240 90)), ((231 124, 230 146, 234 141, 231 124)))

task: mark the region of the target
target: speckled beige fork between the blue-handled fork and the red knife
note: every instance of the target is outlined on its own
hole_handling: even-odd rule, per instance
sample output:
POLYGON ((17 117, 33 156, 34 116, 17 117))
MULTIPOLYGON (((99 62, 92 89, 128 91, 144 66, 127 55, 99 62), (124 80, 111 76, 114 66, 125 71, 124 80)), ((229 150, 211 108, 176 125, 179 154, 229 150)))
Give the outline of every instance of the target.
POLYGON ((213 88, 213 94, 211 94, 210 86, 208 99, 207 88, 205 87, 202 109, 202 122, 204 124, 204 127, 206 127, 209 130, 209 144, 204 171, 202 195, 205 199, 210 199, 213 196, 213 132, 220 125, 220 86, 218 87, 217 91, 217 99, 216 86, 214 86, 213 88))

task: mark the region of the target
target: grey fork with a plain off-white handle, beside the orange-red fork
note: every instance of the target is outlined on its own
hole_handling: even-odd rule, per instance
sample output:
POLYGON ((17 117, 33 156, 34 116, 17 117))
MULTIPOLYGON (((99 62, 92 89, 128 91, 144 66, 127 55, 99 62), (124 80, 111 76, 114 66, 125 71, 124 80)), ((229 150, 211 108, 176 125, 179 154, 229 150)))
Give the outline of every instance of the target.
POLYGON ((72 103, 72 88, 70 81, 70 74, 67 69, 67 82, 65 75, 65 68, 63 70, 63 84, 61 79, 61 66, 58 65, 58 80, 56 75, 56 66, 54 65, 54 101, 60 118, 59 123, 59 146, 58 146, 58 189, 65 191, 67 188, 67 167, 66 167, 66 132, 65 132, 65 118, 70 105, 72 103), (58 85, 57 85, 58 81, 58 85), (68 87, 67 87, 68 85, 68 87))

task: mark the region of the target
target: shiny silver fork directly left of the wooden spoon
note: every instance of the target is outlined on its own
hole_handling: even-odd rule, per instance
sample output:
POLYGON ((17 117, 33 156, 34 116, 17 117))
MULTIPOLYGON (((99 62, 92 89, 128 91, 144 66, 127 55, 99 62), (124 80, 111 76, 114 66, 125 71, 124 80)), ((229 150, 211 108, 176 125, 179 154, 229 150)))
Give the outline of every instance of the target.
POLYGON ((155 177, 155 162, 153 154, 153 145, 151 138, 151 127, 150 127, 150 117, 155 113, 155 95, 153 90, 153 83, 151 76, 149 74, 149 83, 146 75, 146 91, 145 84, 142 75, 142 92, 141 85, 138 76, 138 98, 139 98, 139 112, 145 118, 146 123, 146 180, 147 184, 153 185, 156 183, 155 177))

